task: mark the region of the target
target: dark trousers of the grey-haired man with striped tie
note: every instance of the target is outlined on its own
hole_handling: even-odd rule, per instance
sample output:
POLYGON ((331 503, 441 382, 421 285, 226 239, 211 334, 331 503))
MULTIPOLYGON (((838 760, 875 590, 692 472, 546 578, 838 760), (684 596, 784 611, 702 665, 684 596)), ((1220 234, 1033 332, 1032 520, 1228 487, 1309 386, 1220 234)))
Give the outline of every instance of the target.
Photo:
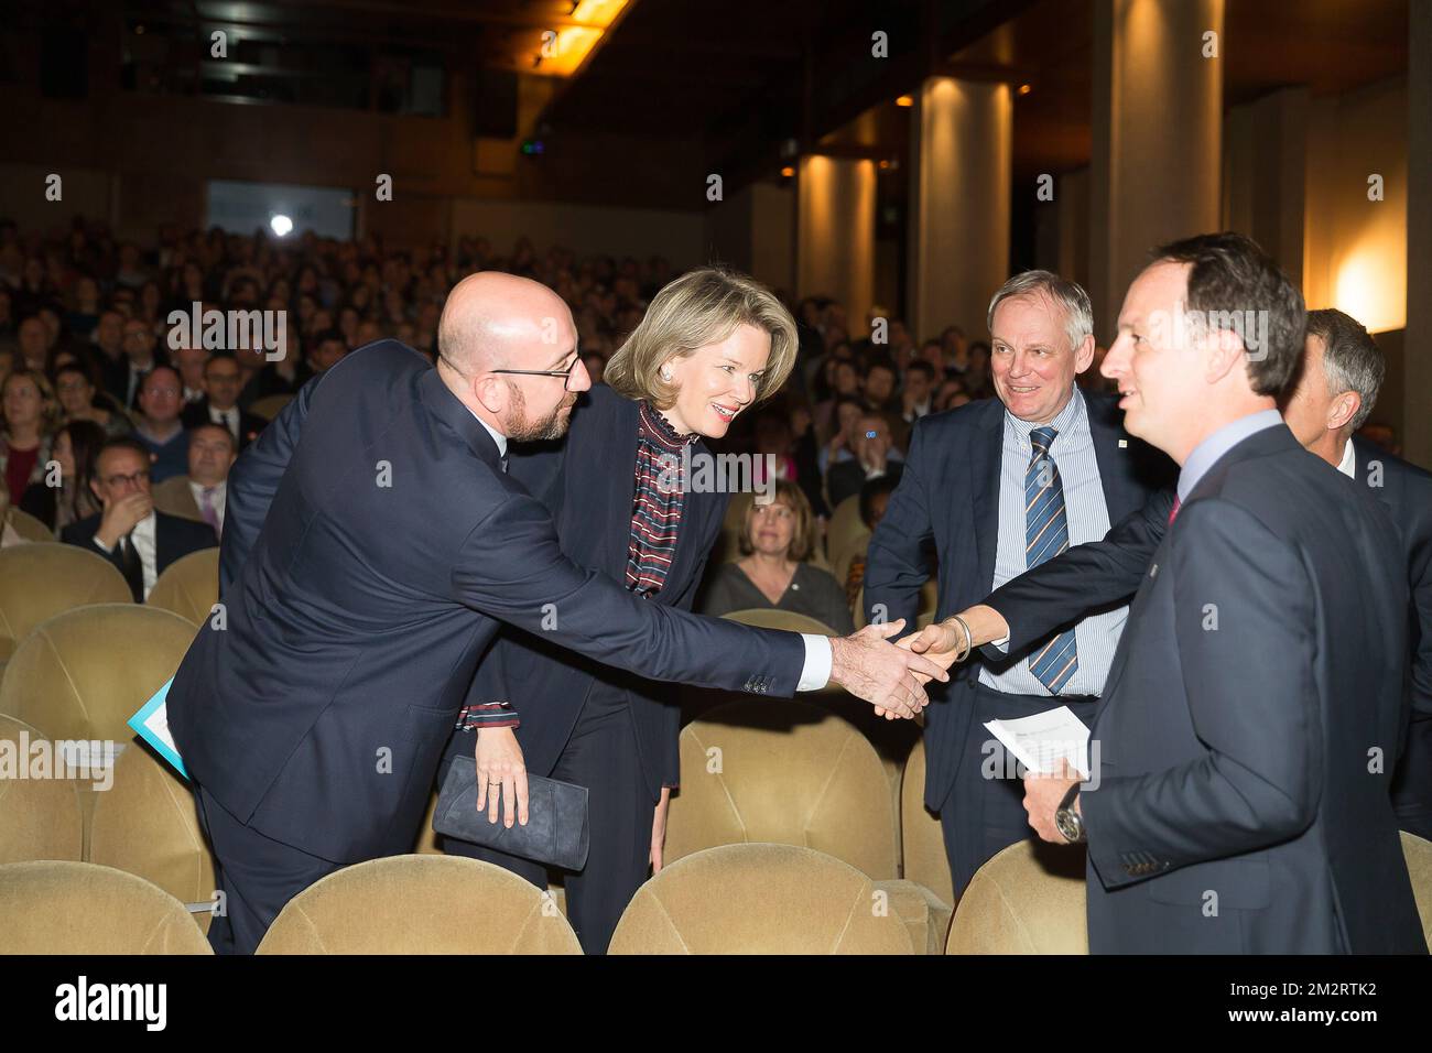
POLYGON ((1024 771, 984 725, 995 719, 1034 716, 1060 706, 1068 706, 1085 725, 1091 725, 1098 703, 1088 695, 1008 695, 982 683, 975 685, 969 698, 974 705, 969 734, 961 748, 949 795, 939 807, 939 827, 945 835, 957 898, 964 895, 975 871, 991 857, 1034 837, 1024 811, 1024 771))

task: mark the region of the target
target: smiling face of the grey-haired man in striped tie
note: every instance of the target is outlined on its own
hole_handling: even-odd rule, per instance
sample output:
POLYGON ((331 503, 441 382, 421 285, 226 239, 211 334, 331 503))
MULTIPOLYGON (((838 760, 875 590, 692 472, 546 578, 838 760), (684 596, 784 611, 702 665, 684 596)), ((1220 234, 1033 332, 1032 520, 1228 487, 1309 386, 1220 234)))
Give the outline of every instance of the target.
POLYGON ((1005 408, 1048 424, 1068 405, 1074 377, 1088 368, 1094 338, 1070 347, 1064 311, 1045 295, 1011 297, 994 311, 990 370, 1005 408))

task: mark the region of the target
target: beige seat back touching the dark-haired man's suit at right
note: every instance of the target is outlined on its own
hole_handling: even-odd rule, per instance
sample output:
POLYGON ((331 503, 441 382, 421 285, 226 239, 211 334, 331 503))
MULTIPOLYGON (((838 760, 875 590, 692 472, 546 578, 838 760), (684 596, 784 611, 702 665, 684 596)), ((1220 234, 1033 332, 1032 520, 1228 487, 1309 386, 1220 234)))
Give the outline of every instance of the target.
POLYGON ((982 865, 949 925, 947 954, 1088 954, 1084 851, 1020 841, 982 865))

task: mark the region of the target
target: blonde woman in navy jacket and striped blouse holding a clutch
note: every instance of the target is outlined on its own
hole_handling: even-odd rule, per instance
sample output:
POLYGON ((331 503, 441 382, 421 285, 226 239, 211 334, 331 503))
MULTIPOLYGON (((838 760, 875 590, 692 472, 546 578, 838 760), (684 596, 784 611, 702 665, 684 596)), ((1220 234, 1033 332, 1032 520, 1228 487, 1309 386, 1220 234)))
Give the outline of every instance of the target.
MULTIPOLYGON (((692 271, 652 299, 606 364, 606 385, 573 411, 566 443, 518 446, 508 474, 551 511, 567 557, 652 603, 689 610, 729 494, 703 486, 700 467, 686 479, 682 464, 710 458, 702 440, 722 438, 737 414, 779 390, 795 355, 795 321, 769 289, 727 271, 692 271)), ((564 383, 584 368, 573 351, 566 370, 528 383, 564 383)), ((554 436, 560 430, 534 428, 511 438, 554 436)), ((647 867, 662 867, 680 711, 664 686, 508 629, 470 699, 442 772, 475 755, 481 785, 520 776, 520 807, 526 772, 587 788, 590 851, 586 867, 566 875, 567 915, 583 950, 604 953, 647 867)), ((495 821, 495 794, 487 809, 495 821)), ((547 884, 536 862, 453 840, 444 848, 547 884)))

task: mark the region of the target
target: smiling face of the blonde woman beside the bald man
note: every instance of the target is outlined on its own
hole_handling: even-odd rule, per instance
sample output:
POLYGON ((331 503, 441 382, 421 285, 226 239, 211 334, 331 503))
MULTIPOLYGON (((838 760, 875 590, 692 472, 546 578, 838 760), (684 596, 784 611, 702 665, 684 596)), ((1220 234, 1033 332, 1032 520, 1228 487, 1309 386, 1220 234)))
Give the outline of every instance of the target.
POLYGON ((669 383, 677 393, 663 415, 682 434, 695 431, 705 438, 720 438, 756 400, 769 358, 770 334, 742 324, 720 342, 667 360, 662 370, 670 371, 669 383))

